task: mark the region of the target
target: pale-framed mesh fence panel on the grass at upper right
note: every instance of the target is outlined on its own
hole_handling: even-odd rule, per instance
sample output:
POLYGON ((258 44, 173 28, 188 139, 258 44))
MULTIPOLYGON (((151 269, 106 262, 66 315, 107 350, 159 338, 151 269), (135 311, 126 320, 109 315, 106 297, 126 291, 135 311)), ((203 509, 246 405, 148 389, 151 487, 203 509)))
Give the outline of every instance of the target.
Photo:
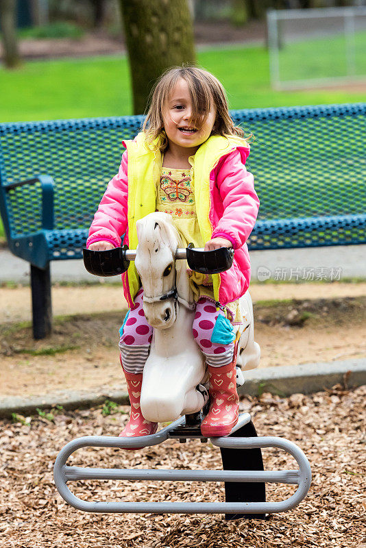
POLYGON ((273 88, 366 80, 366 7, 270 11, 267 22, 273 88))

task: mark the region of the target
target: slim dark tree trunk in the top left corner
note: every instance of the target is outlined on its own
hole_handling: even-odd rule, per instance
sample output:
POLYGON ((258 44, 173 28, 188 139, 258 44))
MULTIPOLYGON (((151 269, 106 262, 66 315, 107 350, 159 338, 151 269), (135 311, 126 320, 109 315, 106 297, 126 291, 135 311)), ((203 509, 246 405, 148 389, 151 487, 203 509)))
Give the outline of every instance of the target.
POLYGON ((18 42, 15 29, 16 0, 0 0, 0 29, 4 62, 8 69, 19 64, 18 42))

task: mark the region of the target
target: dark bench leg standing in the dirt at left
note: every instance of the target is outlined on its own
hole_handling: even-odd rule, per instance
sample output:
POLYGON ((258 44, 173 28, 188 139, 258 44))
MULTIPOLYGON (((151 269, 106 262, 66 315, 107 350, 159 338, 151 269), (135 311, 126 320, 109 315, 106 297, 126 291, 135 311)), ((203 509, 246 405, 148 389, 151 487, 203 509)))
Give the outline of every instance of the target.
POLYGON ((33 336, 35 339, 45 338, 51 333, 51 273, 49 264, 38 269, 31 264, 32 317, 33 336))

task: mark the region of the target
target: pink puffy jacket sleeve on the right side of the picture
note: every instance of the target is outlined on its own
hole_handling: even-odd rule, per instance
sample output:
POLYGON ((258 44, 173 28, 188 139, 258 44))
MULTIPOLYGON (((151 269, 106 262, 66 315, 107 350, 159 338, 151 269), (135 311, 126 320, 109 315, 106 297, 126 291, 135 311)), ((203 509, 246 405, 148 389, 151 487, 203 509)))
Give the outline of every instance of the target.
POLYGON ((256 223, 259 199, 254 177, 245 168, 245 155, 238 149, 223 160, 217 172, 217 187, 223 202, 223 215, 212 238, 230 240, 234 249, 243 246, 256 223))

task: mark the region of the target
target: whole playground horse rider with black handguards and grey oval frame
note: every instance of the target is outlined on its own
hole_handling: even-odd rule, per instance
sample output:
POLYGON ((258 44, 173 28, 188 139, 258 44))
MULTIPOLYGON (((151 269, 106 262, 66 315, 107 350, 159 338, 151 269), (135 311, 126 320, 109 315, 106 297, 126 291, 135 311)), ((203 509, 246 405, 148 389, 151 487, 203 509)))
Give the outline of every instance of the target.
MULTIPOLYGON (((130 470, 91 469, 67 466, 71 454, 82 447, 151 447, 169 439, 200 439, 200 424, 208 411, 207 378, 199 347, 193 340, 193 295, 186 275, 188 266, 203 273, 219 273, 232 265, 233 251, 221 248, 204 251, 179 247, 179 236, 167 214, 153 213, 137 223, 138 248, 126 247, 110 251, 84 249, 86 269, 96 275, 110 276, 125 272, 135 261, 146 297, 144 312, 154 326, 151 351, 145 364, 141 387, 141 411, 145 419, 154 422, 173 421, 156 434, 133 438, 85 436, 68 443, 59 453, 54 466, 54 478, 60 495, 79 510, 86 512, 150 512, 150 513, 225 513, 226 519, 238 517, 263 518, 266 514, 283 512, 296 506, 308 492, 311 471, 302 450, 289 440, 276 437, 257 437, 248 413, 227 437, 210 438, 219 447, 223 470, 130 470), (151 254, 150 250, 158 250, 151 254), (149 258, 154 257, 154 264, 149 258), (167 272, 169 266, 169 273, 167 272), (171 268, 170 268, 171 266, 171 268), (159 270, 160 269, 160 270, 159 270), (160 275, 159 275, 160 272, 160 275), (173 338, 174 345, 169 344, 173 338), (177 416, 180 419, 175 420, 177 416), (290 453, 299 469, 264 471, 261 449, 276 447, 290 453), (80 479, 129 479, 160 481, 225 482, 225 503, 194 502, 89 502, 71 493, 68 482, 80 479), (265 483, 297 484, 289 499, 267 502, 265 483)), ((241 381, 240 367, 258 366, 259 347, 254 342, 252 301, 249 293, 241 299, 245 324, 237 333, 237 382, 241 381)))

